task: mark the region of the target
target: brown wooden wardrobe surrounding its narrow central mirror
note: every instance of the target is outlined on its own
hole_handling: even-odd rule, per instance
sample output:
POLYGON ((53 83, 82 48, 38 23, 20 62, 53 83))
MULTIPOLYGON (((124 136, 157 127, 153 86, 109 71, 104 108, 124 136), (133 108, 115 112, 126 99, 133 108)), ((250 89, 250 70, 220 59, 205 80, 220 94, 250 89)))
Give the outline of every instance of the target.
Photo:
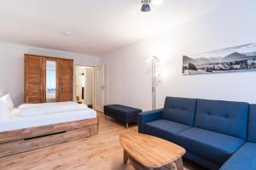
POLYGON ((24 102, 46 102, 46 62, 55 61, 55 102, 73 101, 73 59, 24 55, 24 102))

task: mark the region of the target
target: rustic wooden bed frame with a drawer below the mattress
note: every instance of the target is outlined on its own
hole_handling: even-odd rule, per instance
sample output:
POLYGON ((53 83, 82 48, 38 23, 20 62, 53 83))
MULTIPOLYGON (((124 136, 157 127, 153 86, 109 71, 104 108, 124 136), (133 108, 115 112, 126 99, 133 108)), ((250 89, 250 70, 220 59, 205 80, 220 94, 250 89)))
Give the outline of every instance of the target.
POLYGON ((98 133, 98 118, 0 133, 0 157, 83 139, 98 133))

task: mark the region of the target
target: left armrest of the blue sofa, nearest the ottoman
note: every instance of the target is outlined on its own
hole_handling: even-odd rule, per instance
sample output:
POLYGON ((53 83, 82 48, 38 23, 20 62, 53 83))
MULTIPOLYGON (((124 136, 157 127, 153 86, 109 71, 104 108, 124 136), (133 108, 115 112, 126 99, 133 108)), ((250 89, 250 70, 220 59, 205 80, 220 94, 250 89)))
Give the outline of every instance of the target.
POLYGON ((155 111, 145 111, 138 114, 138 132, 144 133, 144 124, 146 122, 157 121, 162 117, 164 109, 155 111))

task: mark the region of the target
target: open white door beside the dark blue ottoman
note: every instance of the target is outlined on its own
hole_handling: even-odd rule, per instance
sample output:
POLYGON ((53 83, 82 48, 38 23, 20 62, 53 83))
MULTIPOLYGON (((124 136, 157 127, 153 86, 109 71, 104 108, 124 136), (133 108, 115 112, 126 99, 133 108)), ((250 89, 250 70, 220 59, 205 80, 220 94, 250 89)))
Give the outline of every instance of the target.
POLYGON ((96 111, 103 112, 105 94, 104 65, 95 67, 95 105, 96 111))

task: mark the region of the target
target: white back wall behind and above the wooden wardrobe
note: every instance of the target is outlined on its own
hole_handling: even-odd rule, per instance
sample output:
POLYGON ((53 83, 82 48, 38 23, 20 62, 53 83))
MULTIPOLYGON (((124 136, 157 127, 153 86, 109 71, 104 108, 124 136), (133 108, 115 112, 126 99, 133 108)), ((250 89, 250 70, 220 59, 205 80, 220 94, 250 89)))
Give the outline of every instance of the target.
POLYGON ((23 102, 24 54, 74 59, 74 65, 95 66, 101 62, 100 58, 90 55, 0 42, 0 90, 8 91, 14 99, 15 105, 20 105, 23 102))

